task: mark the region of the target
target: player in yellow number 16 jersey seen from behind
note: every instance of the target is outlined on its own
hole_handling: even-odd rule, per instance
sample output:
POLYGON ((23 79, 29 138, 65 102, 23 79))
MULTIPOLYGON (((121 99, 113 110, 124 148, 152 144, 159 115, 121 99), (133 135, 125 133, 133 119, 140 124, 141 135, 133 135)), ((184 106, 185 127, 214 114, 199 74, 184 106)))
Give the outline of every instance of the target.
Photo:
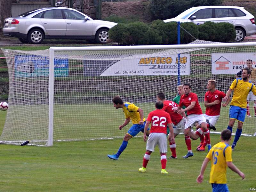
POLYGON ((202 183, 204 179, 204 171, 209 161, 211 161, 211 173, 210 173, 210 183, 212 184, 212 192, 228 192, 227 186, 227 166, 234 172, 236 172, 242 179, 244 179, 244 173, 241 172, 232 163, 232 150, 229 146, 229 141, 231 140, 231 131, 225 129, 221 132, 220 136, 221 142, 214 145, 201 167, 201 171, 196 181, 202 183))

